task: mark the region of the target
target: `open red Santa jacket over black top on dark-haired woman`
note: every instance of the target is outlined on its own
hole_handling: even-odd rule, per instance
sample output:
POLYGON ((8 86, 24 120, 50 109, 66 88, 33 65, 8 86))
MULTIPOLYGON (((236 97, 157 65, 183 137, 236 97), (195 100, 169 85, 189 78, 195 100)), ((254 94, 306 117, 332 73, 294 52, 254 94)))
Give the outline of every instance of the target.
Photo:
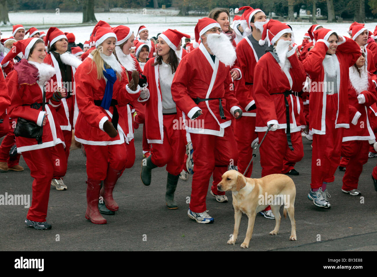
MULTIPOLYGON (((70 55, 70 54, 69 54, 70 55)), ((73 57, 75 58, 75 57, 73 57)), ((75 58, 77 59, 77 58, 75 58)), ((43 60, 43 63, 46 63, 46 64, 49 64, 51 65, 52 67, 54 67, 55 69, 55 76, 53 78, 54 82, 57 82, 57 84, 60 84, 61 86, 61 72, 60 72, 60 68, 59 68, 59 64, 58 64, 58 61, 56 60, 56 58, 54 57, 54 55, 51 55, 51 54, 48 54, 46 56, 46 58, 44 58, 43 60)), ((69 64, 70 65, 70 64, 69 64)), ((76 68, 73 66, 77 66, 77 64, 73 64, 70 65, 70 68, 71 68, 71 80, 72 80, 72 84, 70 85, 70 87, 72 87, 72 99, 74 101, 74 110, 70 110, 70 107, 67 105, 67 100, 65 98, 61 99, 61 105, 56 109, 56 112, 57 112, 57 115, 58 115, 58 123, 60 124, 60 128, 61 130, 66 130, 66 131, 71 131, 73 128, 74 128, 74 124, 75 124, 75 121, 74 121, 74 118, 76 119, 77 118, 77 115, 78 115, 78 108, 77 108, 77 104, 76 104, 76 95, 75 95, 75 72, 76 72, 76 68), (70 118, 70 114, 74 114, 74 117, 70 118)), ((55 83, 56 84, 56 83, 55 83)))

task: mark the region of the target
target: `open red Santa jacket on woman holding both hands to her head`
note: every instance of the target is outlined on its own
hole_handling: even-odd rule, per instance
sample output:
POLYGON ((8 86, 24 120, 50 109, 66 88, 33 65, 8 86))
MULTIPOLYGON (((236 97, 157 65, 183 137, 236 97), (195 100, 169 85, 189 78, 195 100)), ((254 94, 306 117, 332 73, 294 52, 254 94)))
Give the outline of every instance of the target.
MULTIPOLYGON (((334 124, 335 128, 349 128, 348 68, 355 64, 361 53, 360 46, 351 38, 343 37, 343 41, 338 45, 336 54, 334 54, 339 61, 337 66, 338 109, 334 124)), ((318 92, 311 92, 309 96, 309 125, 311 132, 318 135, 326 134, 326 93, 323 93, 323 86, 320 84, 327 82, 322 62, 328 46, 329 43, 327 41, 323 39, 317 40, 314 48, 311 49, 303 61, 305 71, 310 75, 312 86, 317 84, 317 88, 321 88, 318 92)))

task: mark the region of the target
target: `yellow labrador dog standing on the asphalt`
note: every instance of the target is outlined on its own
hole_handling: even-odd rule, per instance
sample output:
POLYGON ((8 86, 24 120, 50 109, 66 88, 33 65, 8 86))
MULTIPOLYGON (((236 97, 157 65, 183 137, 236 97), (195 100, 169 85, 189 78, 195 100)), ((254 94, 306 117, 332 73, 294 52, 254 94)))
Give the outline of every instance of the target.
POLYGON ((260 179, 246 178, 236 170, 229 170, 222 175, 217 185, 219 191, 230 190, 233 194, 234 231, 228 244, 235 244, 238 236, 242 213, 248 218, 247 232, 241 248, 248 248, 254 229, 255 215, 263 211, 268 205, 275 215, 275 229, 271 235, 277 235, 280 226, 279 208, 284 204, 284 217, 291 220, 291 236, 289 240, 296 240, 296 221, 294 220, 294 199, 296 187, 291 178, 284 174, 271 174, 260 179))

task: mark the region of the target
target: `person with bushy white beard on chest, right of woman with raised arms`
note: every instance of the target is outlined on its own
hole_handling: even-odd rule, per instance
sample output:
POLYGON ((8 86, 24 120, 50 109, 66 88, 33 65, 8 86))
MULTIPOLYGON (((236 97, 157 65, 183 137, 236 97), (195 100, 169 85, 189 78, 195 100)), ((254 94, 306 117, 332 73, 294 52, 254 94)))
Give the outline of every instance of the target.
POLYGON ((363 165, 368 161, 369 144, 375 142, 368 107, 376 102, 376 92, 365 66, 365 48, 361 47, 362 55, 354 66, 349 67, 348 101, 351 106, 349 112, 352 124, 349 124, 349 129, 343 132, 341 152, 343 157, 349 159, 343 177, 342 191, 351 195, 361 194, 357 190, 359 176, 363 171, 363 165))

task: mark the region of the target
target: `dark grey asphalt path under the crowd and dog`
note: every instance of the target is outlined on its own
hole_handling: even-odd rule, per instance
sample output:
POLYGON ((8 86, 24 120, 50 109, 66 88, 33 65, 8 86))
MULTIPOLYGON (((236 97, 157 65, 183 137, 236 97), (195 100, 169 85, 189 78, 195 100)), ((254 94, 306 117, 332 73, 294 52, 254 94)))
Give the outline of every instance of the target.
MULTIPOLYGON (((299 176, 291 176, 296 185, 295 219, 297 241, 289 241, 290 220, 280 224, 279 234, 271 236, 275 221, 257 215, 253 237, 248 249, 241 249, 247 230, 247 216, 242 216, 236 245, 227 245, 233 233, 234 210, 232 194, 228 203, 218 203, 210 195, 208 185, 207 210, 215 218, 212 224, 199 224, 187 216, 189 181, 179 180, 175 194, 177 210, 168 210, 165 201, 167 171, 155 168, 152 184, 140 181, 142 128, 135 130, 136 161, 126 169, 114 190, 120 209, 113 216, 104 216, 107 224, 97 225, 85 219, 86 158, 80 150, 70 153, 64 182, 68 189, 51 187, 47 220, 51 230, 35 230, 25 225, 28 209, 21 205, 0 205, 0 250, 6 251, 372 251, 377 250, 377 192, 371 172, 377 158, 368 159, 359 180, 360 196, 341 191, 344 172, 335 173, 335 182, 328 184, 330 209, 314 206, 308 200, 311 174, 311 142, 303 138, 304 158, 296 164, 299 176), (363 203, 361 203, 363 202, 363 203)), ((261 177, 259 153, 253 167, 253 178, 261 177)), ((274 150, 271 149, 271 156, 274 150)), ((203 153, 205 159, 205 153, 203 153)), ((0 194, 31 194, 33 179, 21 157, 25 171, 0 173, 0 194)), ((212 181, 212 180, 211 180, 212 181)), ((210 182, 211 184, 211 182, 210 182)), ((282 214, 282 207, 280 208, 282 214)))

